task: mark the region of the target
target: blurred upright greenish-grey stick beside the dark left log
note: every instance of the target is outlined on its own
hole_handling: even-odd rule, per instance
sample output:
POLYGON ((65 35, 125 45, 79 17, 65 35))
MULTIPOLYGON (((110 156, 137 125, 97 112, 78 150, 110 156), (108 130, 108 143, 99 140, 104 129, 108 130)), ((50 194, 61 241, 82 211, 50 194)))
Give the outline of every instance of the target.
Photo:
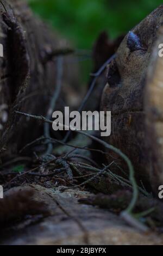
MULTIPOLYGON (((52 117, 53 111, 55 109, 55 105, 56 105, 58 97, 60 95, 62 75, 63 75, 63 57, 60 56, 60 57, 58 57, 58 60, 57 60, 57 87, 54 91, 51 103, 48 108, 48 112, 47 112, 47 116, 46 116, 47 119, 50 119, 52 117)), ((45 125, 44 125, 44 135, 47 138, 51 137, 50 127, 49 127, 48 123, 45 123, 45 125)), ((53 144, 51 142, 49 142, 45 155, 51 154, 52 151, 53 151, 53 144)))

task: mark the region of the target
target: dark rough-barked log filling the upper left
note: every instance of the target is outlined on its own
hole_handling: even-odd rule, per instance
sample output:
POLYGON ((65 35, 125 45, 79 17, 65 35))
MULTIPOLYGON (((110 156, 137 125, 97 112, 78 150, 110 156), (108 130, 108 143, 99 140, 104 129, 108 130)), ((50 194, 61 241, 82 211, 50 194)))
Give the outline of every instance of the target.
MULTIPOLYGON (((25 1, 0 2, 0 28, 1 44, 4 46, 4 58, 0 58, 0 149, 10 139, 12 150, 16 150, 20 145, 37 138, 42 127, 35 121, 24 121, 14 111, 46 115, 57 76, 57 60, 51 54, 68 45, 33 16, 25 1), (6 112, 8 118, 4 118, 6 112), (21 129, 16 131, 18 123, 21 129)), ((66 57, 62 82, 68 84, 69 81, 77 86, 76 76, 70 72, 73 66, 65 64, 65 60, 66 57)), ((62 102, 58 101, 58 108, 61 105, 62 102)))

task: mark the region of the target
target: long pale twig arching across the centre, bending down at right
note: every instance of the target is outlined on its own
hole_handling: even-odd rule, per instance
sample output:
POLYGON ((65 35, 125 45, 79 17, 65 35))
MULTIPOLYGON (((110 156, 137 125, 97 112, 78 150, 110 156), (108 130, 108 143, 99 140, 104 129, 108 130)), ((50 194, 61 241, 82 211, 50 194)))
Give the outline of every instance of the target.
MULTIPOLYGON (((22 113, 22 112, 19 112, 19 111, 15 111, 15 113, 24 115, 24 116, 29 117, 29 118, 34 118, 34 119, 37 119, 37 120, 41 120, 41 121, 49 123, 49 124, 53 124, 53 121, 48 120, 47 118, 42 117, 42 116, 31 115, 31 114, 22 113)), ((59 126, 66 127, 66 125, 63 125, 63 124, 59 124, 59 126)), ((116 154, 120 155, 122 157, 122 159, 127 163, 127 166, 129 168, 129 179, 130 179, 131 185, 133 186, 133 198, 131 199, 131 202, 130 202, 129 206, 126 209, 126 212, 128 212, 128 214, 130 214, 131 211, 133 211, 134 206, 136 204, 136 201, 137 201, 137 198, 138 198, 138 195, 139 195, 139 190, 137 188, 137 184, 136 184, 135 177, 134 177, 133 164, 131 163, 129 158, 125 154, 123 154, 120 149, 115 148, 114 146, 102 141, 99 138, 96 138, 95 136, 92 136, 92 135, 90 135, 86 132, 83 132, 83 131, 74 130, 74 127, 69 127, 69 129, 73 130, 74 132, 80 133, 80 134, 82 134, 86 137, 89 137, 89 138, 93 139, 93 141, 96 141, 96 142, 102 144, 105 148, 108 148, 109 150, 114 151, 116 154)))

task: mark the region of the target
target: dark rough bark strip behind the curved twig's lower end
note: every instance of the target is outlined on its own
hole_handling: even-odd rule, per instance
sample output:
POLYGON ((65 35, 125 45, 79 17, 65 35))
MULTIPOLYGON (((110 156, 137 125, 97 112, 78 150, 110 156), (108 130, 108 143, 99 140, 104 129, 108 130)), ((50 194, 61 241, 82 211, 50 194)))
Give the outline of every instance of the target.
MULTIPOLYGON (((97 194, 88 198, 80 199, 80 203, 96 205, 101 208, 110 209, 116 213, 121 213, 127 208, 130 203, 132 193, 129 190, 120 190, 114 194, 105 195, 97 194)), ((148 212, 147 216, 152 218, 153 224, 162 227, 163 224, 163 205, 162 203, 152 197, 144 197, 140 194, 134 209, 136 215, 141 215, 142 212, 148 212), (151 211, 151 212, 150 212, 151 211)), ((145 215, 146 216, 146 215, 145 215)))

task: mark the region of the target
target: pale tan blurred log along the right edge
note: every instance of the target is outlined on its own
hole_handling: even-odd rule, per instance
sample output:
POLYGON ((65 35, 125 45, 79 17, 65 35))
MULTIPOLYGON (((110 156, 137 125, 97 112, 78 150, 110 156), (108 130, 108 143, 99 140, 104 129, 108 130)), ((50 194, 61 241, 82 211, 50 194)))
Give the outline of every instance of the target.
POLYGON ((145 110, 148 138, 148 158, 150 159, 150 177, 154 191, 163 184, 163 58, 159 57, 159 45, 163 42, 163 27, 160 28, 151 63, 148 69, 145 110))

